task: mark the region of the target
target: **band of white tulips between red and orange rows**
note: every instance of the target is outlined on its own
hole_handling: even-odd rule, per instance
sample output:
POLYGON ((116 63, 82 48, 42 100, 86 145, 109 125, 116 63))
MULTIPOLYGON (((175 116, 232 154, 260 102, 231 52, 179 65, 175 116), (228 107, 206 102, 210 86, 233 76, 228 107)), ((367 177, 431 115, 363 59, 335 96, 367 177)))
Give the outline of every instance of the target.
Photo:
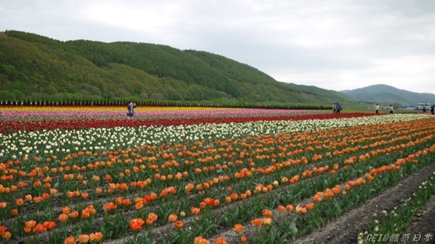
POLYGON ((141 126, 89 128, 79 130, 43 130, 0 134, 0 162, 23 155, 59 155, 79 151, 117 150, 141 145, 241 138, 263 134, 281 134, 356 125, 403 122, 432 118, 430 115, 397 114, 342 119, 301 121, 260 121, 179 126, 141 126))

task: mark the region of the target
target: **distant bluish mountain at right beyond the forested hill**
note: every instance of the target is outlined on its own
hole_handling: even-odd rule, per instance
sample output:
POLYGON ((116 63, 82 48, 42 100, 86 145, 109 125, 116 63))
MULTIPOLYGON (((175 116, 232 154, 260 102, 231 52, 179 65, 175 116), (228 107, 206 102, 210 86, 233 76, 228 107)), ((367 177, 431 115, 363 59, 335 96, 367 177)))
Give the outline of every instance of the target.
POLYGON ((389 105, 395 102, 402 106, 415 106, 417 103, 422 102, 435 103, 435 95, 432 93, 410 92, 382 84, 354 90, 345 90, 341 91, 341 93, 351 96, 358 101, 379 103, 382 105, 389 105))

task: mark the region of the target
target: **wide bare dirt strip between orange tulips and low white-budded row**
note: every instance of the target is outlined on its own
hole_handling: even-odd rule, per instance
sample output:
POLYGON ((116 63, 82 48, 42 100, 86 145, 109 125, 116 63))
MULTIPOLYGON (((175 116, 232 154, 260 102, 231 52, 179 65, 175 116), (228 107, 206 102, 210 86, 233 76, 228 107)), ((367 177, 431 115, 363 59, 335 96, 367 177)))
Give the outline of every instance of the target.
MULTIPOLYGON (((338 217, 335 221, 331 221, 326 224, 325 227, 316 229, 313 233, 297 239, 294 243, 357 243, 358 234, 365 231, 367 224, 370 224, 373 221, 372 214, 380 214, 382 210, 390 211, 392 208, 400 204, 401 199, 411 197, 420 183, 432 176, 433 171, 435 171, 435 162, 432 162, 430 165, 408 176, 397 185, 388 188, 376 197, 369 199, 358 208, 352 209, 338 217)), ((435 210, 432 208, 432 213, 434 213, 434 211, 435 210)), ((432 214, 429 217, 426 216, 424 218, 428 219, 432 217, 431 221, 433 224, 435 221, 434 216, 435 214, 432 214)), ((432 234, 435 236, 435 230, 433 227, 432 232, 434 232, 432 234)))

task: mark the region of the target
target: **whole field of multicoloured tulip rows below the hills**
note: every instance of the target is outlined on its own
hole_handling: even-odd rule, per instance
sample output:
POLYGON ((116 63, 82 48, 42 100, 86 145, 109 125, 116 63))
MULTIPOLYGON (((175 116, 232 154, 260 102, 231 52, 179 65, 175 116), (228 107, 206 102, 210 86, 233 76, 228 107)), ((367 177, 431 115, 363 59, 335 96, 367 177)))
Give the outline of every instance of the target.
POLYGON ((125 113, 0 107, 0 241, 391 241, 435 201, 432 115, 125 113))

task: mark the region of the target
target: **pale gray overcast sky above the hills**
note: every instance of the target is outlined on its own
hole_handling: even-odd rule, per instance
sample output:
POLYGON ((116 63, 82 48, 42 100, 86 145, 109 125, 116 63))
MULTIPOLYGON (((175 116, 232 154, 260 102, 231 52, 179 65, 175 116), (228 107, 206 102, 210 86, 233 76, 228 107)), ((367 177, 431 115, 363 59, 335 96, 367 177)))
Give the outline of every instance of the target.
POLYGON ((325 89, 435 93, 435 0, 0 0, 0 31, 204 50, 325 89))

